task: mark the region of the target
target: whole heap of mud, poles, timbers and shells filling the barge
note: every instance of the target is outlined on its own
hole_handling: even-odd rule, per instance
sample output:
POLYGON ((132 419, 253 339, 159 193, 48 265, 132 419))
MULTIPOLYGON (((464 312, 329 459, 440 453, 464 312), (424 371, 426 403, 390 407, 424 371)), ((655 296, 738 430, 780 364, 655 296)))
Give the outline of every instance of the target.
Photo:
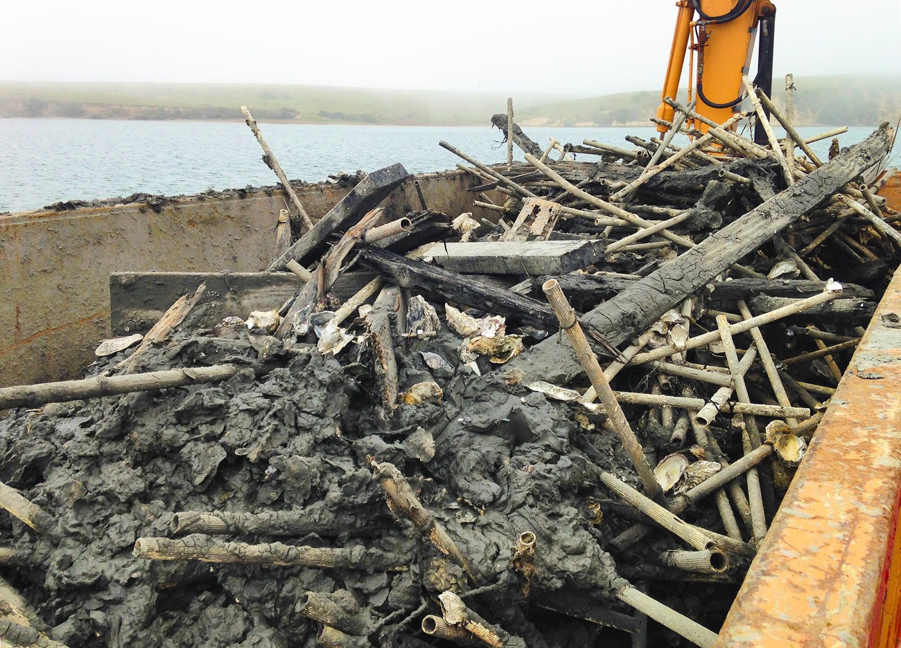
POLYGON ((713 643, 895 267, 891 133, 513 132, 528 164, 441 142, 496 219, 386 222, 400 165, 315 224, 292 196, 277 311, 192 287, 0 389, 5 644, 713 643))

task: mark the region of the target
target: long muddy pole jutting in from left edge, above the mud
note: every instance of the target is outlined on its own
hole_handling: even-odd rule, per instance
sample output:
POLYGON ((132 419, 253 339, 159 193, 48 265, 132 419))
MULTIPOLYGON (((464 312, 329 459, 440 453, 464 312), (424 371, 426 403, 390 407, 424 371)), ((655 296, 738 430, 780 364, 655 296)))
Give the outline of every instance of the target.
POLYGON ((5 387, 0 388, 0 409, 35 407, 46 403, 113 396, 132 391, 151 391, 195 383, 219 382, 232 378, 239 370, 241 368, 236 365, 220 364, 192 369, 149 371, 130 376, 98 376, 84 380, 62 380, 36 385, 5 387))

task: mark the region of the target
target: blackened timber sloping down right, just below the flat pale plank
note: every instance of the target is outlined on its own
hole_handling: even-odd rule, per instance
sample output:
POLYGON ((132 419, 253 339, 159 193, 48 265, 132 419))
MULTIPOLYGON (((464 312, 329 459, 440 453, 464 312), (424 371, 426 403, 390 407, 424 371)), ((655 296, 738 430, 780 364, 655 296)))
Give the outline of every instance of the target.
POLYGON ((400 287, 416 288, 442 300, 453 300, 498 315, 507 315, 545 331, 557 328, 557 316, 551 307, 531 297, 516 295, 475 278, 464 277, 423 261, 405 259, 376 248, 363 250, 360 257, 379 274, 395 281, 400 287))

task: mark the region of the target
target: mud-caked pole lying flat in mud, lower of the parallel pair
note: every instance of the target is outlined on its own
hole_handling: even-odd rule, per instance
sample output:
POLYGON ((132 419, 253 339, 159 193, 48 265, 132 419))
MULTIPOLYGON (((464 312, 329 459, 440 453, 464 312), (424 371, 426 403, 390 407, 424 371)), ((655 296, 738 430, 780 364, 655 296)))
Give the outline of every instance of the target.
POLYGON ((283 543, 230 543, 207 535, 184 538, 138 538, 135 558, 154 561, 233 562, 245 565, 298 565, 333 570, 404 570, 409 560, 395 553, 362 546, 294 546, 283 543))

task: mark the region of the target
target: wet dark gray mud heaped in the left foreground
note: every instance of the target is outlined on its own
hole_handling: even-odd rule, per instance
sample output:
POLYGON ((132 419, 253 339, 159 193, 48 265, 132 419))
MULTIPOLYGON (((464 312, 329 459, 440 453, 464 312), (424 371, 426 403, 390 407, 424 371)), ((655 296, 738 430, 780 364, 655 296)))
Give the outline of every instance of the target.
MULTIPOLYGON (((391 516, 369 458, 395 463, 479 579, 502 584, 477 604, 484 613, 490 614, 491 600, 506 598, 507 614, 509 606, 522 613, 516 592, 523 583, 509 562, 525 531, 535 533, 541 547, 532 591, 610 597, 614 562, 597 539, 614 532, 616 523, 586 524, 587 497, 598 495, 587 485, 586 466, 621 475, 632 470, 609 439, 587 440, 568 406, 500 379, 495 388, 463 400, 475 376, 458 367, 462 340, 445 329, 436 339, 396 349, 401 388, 429 377, 441 385, 443 401, 402 405, 386 424, 369 397, 378 392, 365 347, 345 352, 339 362, 311 345, 286 349, 278 343, 275 352, 266 347, 264 360, 255 342, 243 332, 227 338, 177 333, 152 351, 143 370, 220 362, 245 369, 218 385, 54 404, 0 419, 0 480, 55 516, 63 538, 53 543, 5 516, 2 542, 41 560, 3 570, 4 576, 58 641, 71 648, 312 645, 318 625, 297 612, 306 591, 348 590, 381 618, 412 612, 430 588, 462 584, 460 568, 410 523, 391 516), (450 369, 430 369, 419 351, 439 353, 450 369), (426 463, 405 452, 403 442, 418 428, 434 437, 435 456, 426 463), (574 437, 581 439, 574 443, 574 437), (402 553, 410 569, 315 570, 132 556, 137 538, 171 536, 179 511, 301 509, 327 520, 319 533, 222 537, 378 548, 402 553)), ((97 363, 88 373, 119 360, 97 363)), ((562 624, 562 618, 552 623, 562 624)), ((418 623, 417 617, 408 630, 416 631, 418 623)), ((388 641, 380 634, 370 638, 388 641)))

